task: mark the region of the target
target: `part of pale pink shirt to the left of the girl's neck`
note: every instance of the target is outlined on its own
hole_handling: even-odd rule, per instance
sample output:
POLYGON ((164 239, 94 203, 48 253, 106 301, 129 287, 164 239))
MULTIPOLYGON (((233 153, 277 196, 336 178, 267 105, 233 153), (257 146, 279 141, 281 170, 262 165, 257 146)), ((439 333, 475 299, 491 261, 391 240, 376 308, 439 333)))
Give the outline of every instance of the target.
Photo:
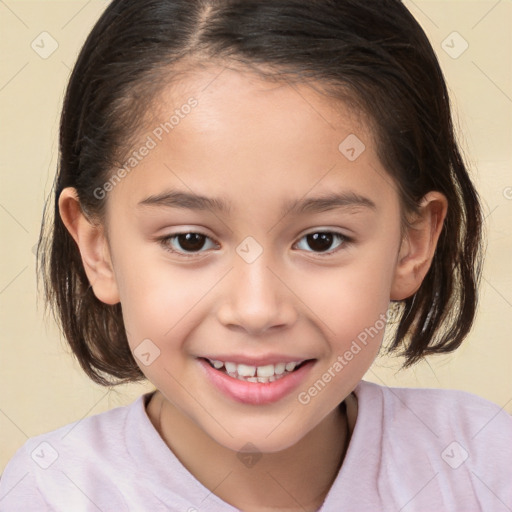
POLYGON ((0 480, 0 512, 236 512, 164 443, 149 395, 26 441, 0 480))

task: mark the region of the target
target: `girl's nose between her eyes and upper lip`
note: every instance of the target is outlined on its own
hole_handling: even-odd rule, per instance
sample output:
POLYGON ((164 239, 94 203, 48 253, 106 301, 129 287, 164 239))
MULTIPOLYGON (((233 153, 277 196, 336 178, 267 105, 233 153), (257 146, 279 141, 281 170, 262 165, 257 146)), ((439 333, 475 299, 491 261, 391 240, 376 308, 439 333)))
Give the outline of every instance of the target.
POLYGON ((296 321, 293 293, 279 272, 269 266, 265 251, 252 263, 235 254, 233 266, 217 310, 225 327, 259 335, 296 321))

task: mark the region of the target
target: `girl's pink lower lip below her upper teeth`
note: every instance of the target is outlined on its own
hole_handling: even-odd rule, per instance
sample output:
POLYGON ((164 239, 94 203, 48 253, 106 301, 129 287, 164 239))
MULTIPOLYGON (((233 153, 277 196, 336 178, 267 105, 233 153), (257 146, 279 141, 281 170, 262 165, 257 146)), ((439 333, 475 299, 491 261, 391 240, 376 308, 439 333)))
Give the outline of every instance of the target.
POLYGON ((199 359, 199 363, 212 384, 224 395, 243 404, 265 405, 281 400, 296 389, 304 382, 315 362, 308 361, 298 370, 268 383, 235 379, 216 370, 203 359, 199 359))

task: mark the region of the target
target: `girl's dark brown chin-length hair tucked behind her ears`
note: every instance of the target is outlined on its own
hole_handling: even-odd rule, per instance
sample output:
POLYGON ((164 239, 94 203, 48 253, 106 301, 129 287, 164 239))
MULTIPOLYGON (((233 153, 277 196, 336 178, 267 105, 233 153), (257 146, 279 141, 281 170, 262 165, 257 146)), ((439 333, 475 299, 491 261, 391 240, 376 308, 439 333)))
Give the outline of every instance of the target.
MULTIPOLYGON (((390 352, 404 367, 456 349, 473 323, 482 214, 461 157, 443 74, 428 39, 398 0, 114 0, 73 69, 60 124, 60 157, 45 206, 38 273, 85 372, 103 385, 144 378, 128 346, 121 304, 94 295, 58 211, 75 187, 101 221, 94 191, 119 166, 159 90, 183 63, 238 63, 266 79, 311 80, 371 120, 379 158, 403 211, 431 190, 449 203, 432 265, 401 301, 390 352)), ((193 67, 193 65, 192 65, 193 67)))

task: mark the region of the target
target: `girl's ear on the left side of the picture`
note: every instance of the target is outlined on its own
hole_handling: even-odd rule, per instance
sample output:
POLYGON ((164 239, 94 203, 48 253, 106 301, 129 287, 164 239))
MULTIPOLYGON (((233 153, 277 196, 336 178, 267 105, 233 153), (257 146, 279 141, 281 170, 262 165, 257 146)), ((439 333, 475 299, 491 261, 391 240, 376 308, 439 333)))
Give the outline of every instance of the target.
POLYGON ((72 187, 61 192, 59 212, 78 245, 94 295, 105 304, 117 304, 119 292, 103 226, 89 221, 80 206, 76 189, 72 187))

